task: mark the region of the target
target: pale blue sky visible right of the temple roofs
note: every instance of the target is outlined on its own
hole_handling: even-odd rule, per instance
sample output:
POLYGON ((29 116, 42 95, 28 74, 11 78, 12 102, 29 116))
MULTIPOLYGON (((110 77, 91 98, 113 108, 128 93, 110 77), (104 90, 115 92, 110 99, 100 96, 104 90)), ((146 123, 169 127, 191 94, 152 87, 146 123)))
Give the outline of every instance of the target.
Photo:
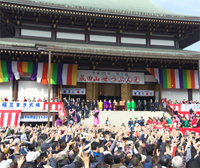
MULTIPOLYGON (((200 0, 153 0, 159 6, 177 13, 195 15, 200 17, 200 0)), ((185 48, 200 52, 200 41, 185 48)))

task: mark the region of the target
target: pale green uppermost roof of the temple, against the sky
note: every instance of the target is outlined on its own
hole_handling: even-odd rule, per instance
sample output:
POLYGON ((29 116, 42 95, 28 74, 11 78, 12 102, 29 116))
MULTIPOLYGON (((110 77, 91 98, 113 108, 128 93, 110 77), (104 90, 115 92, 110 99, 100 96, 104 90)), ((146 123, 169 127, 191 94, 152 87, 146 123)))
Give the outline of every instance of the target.
POLYGON ((1 0, 23 5, 36 5, 68 10, 142 16, 152 18, 170 18, 188 21, 200 21, 200 16, 190 16, 168 11, 152 0, 1 0))

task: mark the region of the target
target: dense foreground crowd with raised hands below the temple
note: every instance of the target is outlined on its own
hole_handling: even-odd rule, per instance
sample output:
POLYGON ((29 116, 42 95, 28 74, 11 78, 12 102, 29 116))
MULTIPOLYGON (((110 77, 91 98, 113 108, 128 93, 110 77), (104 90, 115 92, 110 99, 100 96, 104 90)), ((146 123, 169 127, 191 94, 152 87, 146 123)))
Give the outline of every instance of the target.
MULTIPOLYGON (((142 122, 145 123, 145 122, 142 122)), ((141 124, 141 121, 140 121, 141 124)), ((18 126, 0 129, 1 168, 197 168, 200 137, 138 126, 18 126)))

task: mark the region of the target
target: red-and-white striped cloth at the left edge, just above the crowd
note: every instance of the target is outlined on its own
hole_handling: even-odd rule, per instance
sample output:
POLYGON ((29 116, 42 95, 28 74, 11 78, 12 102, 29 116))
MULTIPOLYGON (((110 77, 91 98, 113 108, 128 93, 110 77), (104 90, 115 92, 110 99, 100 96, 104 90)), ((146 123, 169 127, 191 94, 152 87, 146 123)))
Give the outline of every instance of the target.
POLYGON ((0 110, 0 127, 17 126, 22 110, 0 110))

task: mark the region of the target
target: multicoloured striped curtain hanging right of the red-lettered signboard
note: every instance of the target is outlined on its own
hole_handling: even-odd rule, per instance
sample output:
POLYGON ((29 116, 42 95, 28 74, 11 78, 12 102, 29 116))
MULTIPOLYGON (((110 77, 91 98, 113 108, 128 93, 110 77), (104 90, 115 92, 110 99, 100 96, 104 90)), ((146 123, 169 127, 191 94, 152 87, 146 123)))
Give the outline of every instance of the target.
POLYGON ((146 68, 162 88, 199 89, 198 70, 146 68))

